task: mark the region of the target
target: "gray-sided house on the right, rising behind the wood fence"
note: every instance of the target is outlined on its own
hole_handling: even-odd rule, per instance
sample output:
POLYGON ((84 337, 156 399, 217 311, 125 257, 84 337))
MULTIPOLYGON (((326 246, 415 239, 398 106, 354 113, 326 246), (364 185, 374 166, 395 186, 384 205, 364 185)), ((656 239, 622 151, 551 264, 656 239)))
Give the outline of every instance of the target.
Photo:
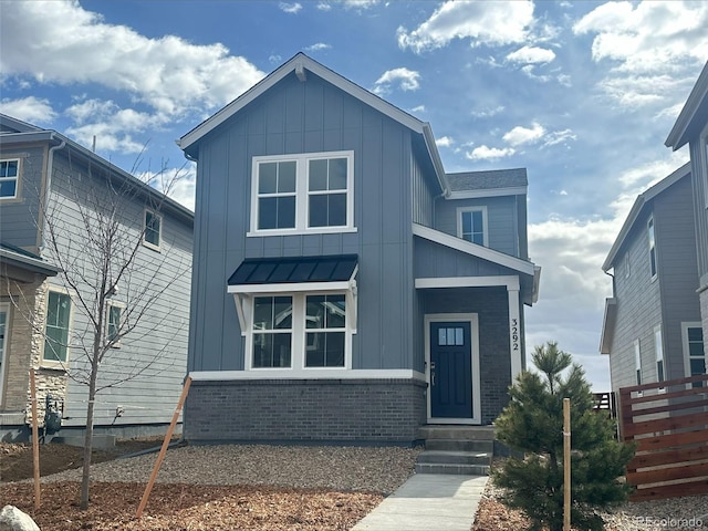
POLYGON ((600 350, 615 392, 705 372, 693 197, 689 164, 641 194, 602 266, 613 295, 600 350))

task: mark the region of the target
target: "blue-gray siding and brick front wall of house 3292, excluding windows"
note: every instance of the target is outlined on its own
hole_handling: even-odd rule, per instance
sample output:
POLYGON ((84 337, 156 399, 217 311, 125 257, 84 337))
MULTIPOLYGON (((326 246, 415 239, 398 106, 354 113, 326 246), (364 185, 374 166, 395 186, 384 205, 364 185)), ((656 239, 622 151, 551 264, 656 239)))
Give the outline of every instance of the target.
MULTIPOLYGON (((415 288, 413 222, 434 226, 441 192, 424 148, 417 133, 311 73, 306 82, 287 75, 190 148, 199 163, 188 371, 210 376, 191 384, 185 405, 188 440, 414 442, 427 417, 426 313, 473 308, 480 322, 499 319, 489 337, 482 333, 482 343, 490 348, 489 383, 499 381, 498 394, 506 394, 506 290, 467 303, 452 298, 455 308, 442 303, 449 293, 415 288), (253 157, 342 150, 354 154, 356 231, 247 236, 253 157), (243 260, 342 254, 358 257, 352 369, 382 371, 382 377, 219 378, 219 372, 244 369, 246 340, 227 293, 227 279, 243 260), (387 371, 412 376, 388 378, 387 371)), ((489 423, 503 399, 486 393, 482 415, 489 423)))

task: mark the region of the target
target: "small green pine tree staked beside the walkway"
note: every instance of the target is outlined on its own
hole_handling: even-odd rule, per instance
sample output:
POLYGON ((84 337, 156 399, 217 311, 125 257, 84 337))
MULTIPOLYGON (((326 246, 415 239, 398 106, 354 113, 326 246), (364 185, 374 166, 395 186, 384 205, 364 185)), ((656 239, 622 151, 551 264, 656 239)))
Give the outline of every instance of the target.
POLYGON ((579 530, 603 530, 595 509, 616 507, 631 486, 621 477, 634 456, 632 446, 614 439, 614 425, 593 412, 585 374, 571 355, 548 342, 537 346, 533 364, 510 388, 511 400, 496 420, 497 438, 523 452, 493 473, 507 489, 502 501, 521 509, 530 530, 563 529, 563 398, 571 400, 571 522, 579 530), (570 367, 568 375, 562 373, 570 367))

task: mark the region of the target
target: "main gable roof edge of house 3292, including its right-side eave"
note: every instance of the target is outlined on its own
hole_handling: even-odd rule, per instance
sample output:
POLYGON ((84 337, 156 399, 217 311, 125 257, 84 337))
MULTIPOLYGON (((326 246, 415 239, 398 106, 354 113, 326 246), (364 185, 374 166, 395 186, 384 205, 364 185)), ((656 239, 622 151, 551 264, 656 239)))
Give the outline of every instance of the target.
POLYGON ((447 181, 445 178, 445 170, 442 169, 442 162, 440 160, 440 155, 435 144, 435 137, 433 136, 430 124, 428 124, 427 122, 421 122, 415 116, 406 113, 405 111, 402 111, 395 105, 392 105, 385 100, 378 97, 376 94, 351 82, 346 77, 343 77, 336 72, 327 69, 326 66, 314 61, 302 52, 298 53, 290 61, 279 66, 251 88, 229 103, 226 107, 221 108, 219 112, 205 119, 197 127, 184 135, 177 140, 177 145, 185 152, 186 155, 189 155, 191 157, 196 156, 196 150, 194 149, 194 147, 205 135, 228 121, 231 116, 233 116, 249 103, 261 96, 285 76, 294 73, 299 80, 305 81, 308 72, 322 77, 323 80, 344 91, 348 95, 360 100, 366 105, 375 108, 389 118, 421 135, 427 147, 428 156, 430 157, 438 180, 440 183, 440 187, 442 188, 442 190, 448 189, 448 186, 446 186, 447 181))

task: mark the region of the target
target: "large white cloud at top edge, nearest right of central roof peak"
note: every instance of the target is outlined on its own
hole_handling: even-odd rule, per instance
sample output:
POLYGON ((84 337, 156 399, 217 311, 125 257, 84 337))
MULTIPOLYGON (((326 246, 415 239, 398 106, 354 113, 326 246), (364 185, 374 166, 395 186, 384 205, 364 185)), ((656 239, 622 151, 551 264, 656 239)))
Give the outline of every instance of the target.
POLYGON ((533 23, 531 2, 447 1, 416 30, 398 28, 398 45, 420 53, 469 39, 472 46, 523 42, 533 23))

